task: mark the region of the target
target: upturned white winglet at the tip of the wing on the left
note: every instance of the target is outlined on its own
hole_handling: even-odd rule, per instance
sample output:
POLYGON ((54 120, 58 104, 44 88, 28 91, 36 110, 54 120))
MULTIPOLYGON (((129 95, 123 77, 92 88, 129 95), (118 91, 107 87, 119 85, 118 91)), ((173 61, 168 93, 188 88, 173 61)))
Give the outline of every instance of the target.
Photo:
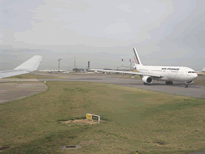
POLYGON ((25 71, 29 71, 29 72, 35 71, 35 70, 37 70, 42 58, 43 57, 40 55, 35 55, 32 58, 30 58, 29 60, 25 61, 23 64, 16 67, 14 70, 25 70, 25 71))

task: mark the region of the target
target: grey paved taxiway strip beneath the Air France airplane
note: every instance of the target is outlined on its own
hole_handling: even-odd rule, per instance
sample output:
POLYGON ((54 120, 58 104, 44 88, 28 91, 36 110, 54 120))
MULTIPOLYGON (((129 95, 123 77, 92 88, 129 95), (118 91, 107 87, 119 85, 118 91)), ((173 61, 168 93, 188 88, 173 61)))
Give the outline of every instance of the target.
MULTIPOLYGON (((1 79, 9 81, 11 79, 1 79)), ((23 79, 21 79, 23 80, 23 79)), ((105 75, 70 75, 68 79, 66 78, 56 78, 56 79, 38 79, 39 81, 81 81, 81 82, 99 82, 99 83, 110 83, 116 85, 122 85, 126 87, 133 87, 139 89, 152 90, 157 92, 183 95, 195 98, 205 99, 205 87, 199 85, 189 85, 188 88, 184 88, 183 83, 174 83, 174 85, 165 85, 164 82, 154 81, 152 85, 144 85, 139 79, 123 79, 114 76, 105 75)), ((20 79, 19 79, 20 81, 20 79)))

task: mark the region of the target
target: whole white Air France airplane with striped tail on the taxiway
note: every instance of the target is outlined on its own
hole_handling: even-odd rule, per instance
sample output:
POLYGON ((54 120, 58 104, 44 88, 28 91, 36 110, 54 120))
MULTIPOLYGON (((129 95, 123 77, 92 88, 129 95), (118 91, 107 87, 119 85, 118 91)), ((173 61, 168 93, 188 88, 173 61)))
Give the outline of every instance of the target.
POLYGON ((91 69, 95 72, 113 72, 123 74, 139 75, 145 85, 151 85, 153 80, 165 81, 166 85, 172 85, 173 81, 185 82, 185 88, 189 84, 193 83, 193 80, 197 78, 197 73, 188 67, 179 66, 144 66, 138 56, 137 50, 133 48, 135 66, 134 69, 137 72, 131 71, 114 71, 103 69, 91 69))

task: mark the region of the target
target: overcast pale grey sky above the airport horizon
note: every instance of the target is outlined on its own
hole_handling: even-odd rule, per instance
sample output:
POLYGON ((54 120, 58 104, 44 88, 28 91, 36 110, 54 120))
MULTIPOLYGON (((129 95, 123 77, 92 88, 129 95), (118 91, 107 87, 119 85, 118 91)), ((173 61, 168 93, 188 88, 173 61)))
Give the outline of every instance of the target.
POLYGON ((39 69, 205 66, 204 0, 0 0, 0 69, 40 54, 39 69), (124 63, 128 66, 128 62, 124 63))

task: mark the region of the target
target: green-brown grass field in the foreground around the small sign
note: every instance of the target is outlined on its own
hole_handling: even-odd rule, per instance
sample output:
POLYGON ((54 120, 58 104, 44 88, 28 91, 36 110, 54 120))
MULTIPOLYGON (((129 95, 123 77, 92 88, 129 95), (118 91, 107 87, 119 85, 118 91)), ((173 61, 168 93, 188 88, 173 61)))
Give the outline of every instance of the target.
POLYGON ((0 104, 2 154, 187 154, 205 150, 205 100, 112 84, 47 82, 47 91, 0 104), (62 124, 98 114, 107 122, 62 124), (63 151, 62 145, 82 149, 63 151))

